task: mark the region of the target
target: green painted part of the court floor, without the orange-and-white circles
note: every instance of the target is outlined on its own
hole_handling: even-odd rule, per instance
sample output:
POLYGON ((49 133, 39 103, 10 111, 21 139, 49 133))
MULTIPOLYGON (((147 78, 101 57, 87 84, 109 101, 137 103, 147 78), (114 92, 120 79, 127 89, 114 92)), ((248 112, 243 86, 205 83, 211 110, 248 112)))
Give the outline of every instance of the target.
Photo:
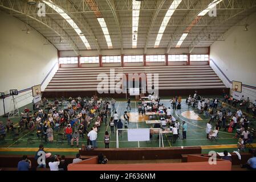
MULTIPOLYGON (((164 104, 167 107, 170 107, 170 102, 169 99, 162 99, 161 104, 164 104)), ((137 101, 132 101, 132 109, 129 111, 130 113, 137 113, 137 101)), ((24 106, 25 107, 25 106, 24 106)), ((19 110, 20 112, 23 111, 24 107, 21 107, 19 110)), ((29 109, 32 109, 32 105, 26 105, 29 109)), ((125 101, 117 100, 116 102, 116 110, 117 114, 123 115, 124 111, 126 109, 127 104, 125 101)), ((229 106, 226 106, 229 107, 229 106)), ((229 108, 231 110, 234 110, 233 108, 229 108)), ((193 107, 188 107, 186 105, 185 100, 182 100, 181 103, 181 112, 183 111, 188 111, 188 110, 194 110, 194 113, 198 113, 196 108, 193 107)), ((189 118, 183 117, 181 114, 177 114, 176 110, 172 110, 172 115, 178 119, 180 124, 182 121, 186 121, 188 123, 188 131, 187 131, 187 138, 185 140, 178 139, 176 143, 173 143, 170 137, 168 135, 163 135, 163 143, 164 147, 178 147, 178 146, 213 146, 214 150, 224 150, 225 145, 233 144, 236 145, 238 139, 233 139, 235 135, 235 131, 233 131, 232 134, 225 132, 223 129, 220 130, 219 135, 218 135, 218 140, 215 141, 210 141, 209 139, 206 139, 206 133, 205 133, 205 128, 206 128, 206 123, 209 121, 209 118, 205 118, 204 115, 198 114, 202 120, 197 121, 189 118), (222 146, 224 145, 224 146, 222 146), (214 147, 217 146, 217 147, 214 147), (218 146, 221 146, 220 149, 218 149, 218 146)), ((1 117, 0 120, 3 122, 6 122, 7 118, 1 117)), ((109 118, 108 118, 109 119, 109 118)), ((255 118, 249 117, 251 126, 255 125, 255 118)), ((12 119, 14 123, 18 123, 19 118, 13 118, 12 119)), ((129 122, 129 129, 136 129, 136 128, 149 128, 153 125, 148 125, 145 122, 129 122)), ((101 123, 101 128, 100 131, 98 132, 97 135, 97 146, 99 148, 104 148, 104 133, 105 131, 108 131, 109 134, 110 132, 110 127, 105 126, 105 123, 101 123)), ((22 152, 22 149, 18 148, 37 148, 40 143, 44 144, 44 147, 46 148, 71 148, 68 146, 67 140, 64 140, 63 143, 57 142, 57 133, 54 134, 54 142, 53 143, 44 143, 40 139, 36 138, 35 131, 28 132, 28 133, 21 133, 18 136, 18 140, 13 140, 13 137, 9 134, 7 134, 5 138, 5 143, 1 141, 0 143, 0 154, 13 154, 15 151, 12 152, 7 152, 4 151, 3 148, 17 148, 17 154, 20 154, 22 152), (30 134, 34 134, 34 136, 30 136, 32 138, 32 143, 28 143, 28 138, 30 134)), ((180 138, 182 138, 181 132, 180 132, 180 138)), ((79 145, 81 144, 86 144, 87 139, 86 138, 80 138, 79 145)), ((254 140, 255 143, 255 140, 254 140)), ((76 145, 75 145, 76 146, 76 145)), ((116 147, 116 132, 114 134, 111 134, 111 141, 109 144, 109 147, 115 148, 116 147)), ((147 141, 147 142, 128 142, 127 140, 127 132, 123 131, 122 137, 119 137, 119 148, 126 148, 126 147, 159 147, 159 135, 153 135, 152 141, 147 141)), ((67 151, 65 154, 75 154, 78 151, 78 148, 74 148, 73 151, 67 151), (77 151, 76 151, 77 150, 77 151)), ((209 148, 209 147, 208 147, 209 148)), ((235 149, 234 146, 226 146, 226 148, 230 148, 230 151, 233 151, 235 149)), ((209 149, 203 148, 203 151, 209 151, 209 149)), ((29 151, 27 151, 29 152, 29 151)), ((31 151, 32 152, 32 151, 31 151)), ((64 154, 63 153, 63 154, 64 154)))

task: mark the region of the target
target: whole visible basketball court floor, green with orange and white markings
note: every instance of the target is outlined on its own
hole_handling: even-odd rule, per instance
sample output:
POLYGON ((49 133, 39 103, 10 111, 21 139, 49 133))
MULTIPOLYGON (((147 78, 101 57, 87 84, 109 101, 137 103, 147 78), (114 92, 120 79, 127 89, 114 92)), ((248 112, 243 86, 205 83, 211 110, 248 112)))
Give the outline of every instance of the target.
MULTIPOLYGON (((167 107, 170 106, 169 99, 162 99, 160 104, 164 104, 167 107)), ((148 119, 145 115, 138 114, 137 109, 137 101, 132 101, 131 107, 132 109, 128 111, 128 115, 130 117, 128 129, 143 129, 143 128, 150 128, 153 127, 153 124, 145 123, 145 120, 148 119)), ((31 109, 32 105, 27 105, 31 109)), ((127 110, 127 103, 126 101, 117 100, 116 101, 116 111, 117 114, 120 115, 121 119, 123 118, 124 111, 127 110)), ((226 105, 232 111, 235 108, 226 105)), ((20 108, 22 111, 24 107, 20 108)), ((112 114, 112 113, 111 113, 112 114)), ((223 151, 224 148, 228 149, 230 152, 237 150, 237 141, 238 139, 234 139, 235 131, 233 133, 227 133, 223 129, 220 130, 218 135, 218 140, 210 141, 206 139, 206 123, 209 121, 210 118, 206 118, 203 114, 198 114, 196 108, 188 107, 185 103, 185 100, 182 99, 181 103, 181 114, 178 114, 176 110, 172 109, 172 115, 178 119, 180 124, 182 125, 182 121, 185 121, 188 124, 188 131, 187 131, 187 138, 182 140, 182 132, 180 130, 180 138, 176 140, 176 143, 172 142, 172 139, 169 137, 169 134, 163 134, 163 144, 164 147, 180 147, 180 146, 202 146, 202 152, 215 150, 215 151, 223 151)), ((5 121, 6 118, 0 118, 2 121, 5 121)), ((255 119, 249 115, 250 122, 255 125, 255 119)), ((13 119, 15 125, 18 125, 18 118, 13 119)), ((109 121, 109 118, 108 118, 109 121)), ((107 122, 108 123, 108 122, 107 122)), ((97 146, 99 148, 104 147, 104 133, 105 131, 110 132, 110 127, 105 123, 101 123, 100 131, 97 135, 97 146)), ((59 131, 60 133, 62 130, 59 131)), ((0 143, 0 154, 19 154, 22 151, 29 152, 28 154, 34 154, 34 151, 38 150, 38 146, 40 143, 43 143, 44 146, 47 148, 48 151, 57 152, 58 154, 75 154, 78 152, 79 148, 68 146, 67 140, 64 139, 63 142, 58 142, 58 133, 54 133, 54 142, 53 143, 44 143, 40 139, 36 138, 35 131, 28 132, 24 131, 20 133, 17 139, 13 139, 11 134, 7 134, 5 139, 5 143, 0 143), (30 139, 29 139, 30 138, 30 139), (29 139, 29 140, 28 140, 29 139)), ((87 138, 80 138, 79 145, 87 143, 87 138)), ((254 141, 255 143, 255 141, 254 141)), ((255 147, 256 144, 253 144, 255 147)), ((111 134, 111 141, 109 144, 110 148, 116 147, 116 132, 111 134)), ((151 141, 147 142, 128 142, 127 139, 127 131, 123 131, 122 137, 119 136, 119 148, 136 148, 136 147, 159 147, 159 134, 154 134, 151 141)))

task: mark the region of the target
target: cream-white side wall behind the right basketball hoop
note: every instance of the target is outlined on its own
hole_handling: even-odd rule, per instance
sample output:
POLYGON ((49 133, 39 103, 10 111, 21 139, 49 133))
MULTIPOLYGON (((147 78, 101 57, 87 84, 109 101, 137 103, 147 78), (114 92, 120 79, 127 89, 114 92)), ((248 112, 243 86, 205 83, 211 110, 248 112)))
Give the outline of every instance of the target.
MULTIPOLYGON (((231 88, 230 81, 241 81, 242 84, 256 86, 256 13, 243 19, 236 26, 231 27, 224 35, 225 41, 215 42, 210 47, 210 59, 217 67, 225 73, 226 77, 216 67, 213 61, 210 66, 217 75, 224 81, 224 84, 231 88), (244 25, 249 24, 249 31, 243 31, 244 25), (229 80, 228 80, 229 79, 229 80)), ((256 99, 256 89, 249 89, 242 86, 242 94, 256 99)))

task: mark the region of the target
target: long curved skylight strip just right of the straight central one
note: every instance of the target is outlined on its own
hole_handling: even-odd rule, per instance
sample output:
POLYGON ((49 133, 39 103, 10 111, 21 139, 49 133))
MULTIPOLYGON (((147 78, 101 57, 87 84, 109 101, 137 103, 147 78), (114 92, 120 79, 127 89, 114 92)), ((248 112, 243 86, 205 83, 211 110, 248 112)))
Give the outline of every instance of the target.
POLYGON ((174 0, 172 2, 172 4, 170 5, 169 9, 167 10, 164 19, 162 20, 161 26, 159 28, 159 32, 157 34, 156 37, 156 42, 155 42, 155 48, 159 47, 159 44, 161 42, 162 39, 162 34, 164 34, 165 28, 170 20, 170 18, 172 17, 174 11, 177 9, 178 5, 180 5, 182 0, 174 0))

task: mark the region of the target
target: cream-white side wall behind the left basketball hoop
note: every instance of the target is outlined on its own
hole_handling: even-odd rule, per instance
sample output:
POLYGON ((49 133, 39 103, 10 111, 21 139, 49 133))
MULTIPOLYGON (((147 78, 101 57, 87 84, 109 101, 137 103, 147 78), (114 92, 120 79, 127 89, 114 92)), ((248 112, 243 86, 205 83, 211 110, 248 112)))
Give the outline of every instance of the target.
MULTIPOLYGON (((44 80, 41 86, 44 90, 58 69, 57 49, 52 45, 44 46, 46 39, 35 30, 30 28, 30 34, 22 31, 26 29, 25 23, 2 11, 0 24, 0 92, 8 94, 10 89, 28 89, 18 95, 18 106, 21 107, 32 101, 29 88, 44 80)), ((10 102, 11 97, 7 97, 6 112, 10 109, 10 102)))

